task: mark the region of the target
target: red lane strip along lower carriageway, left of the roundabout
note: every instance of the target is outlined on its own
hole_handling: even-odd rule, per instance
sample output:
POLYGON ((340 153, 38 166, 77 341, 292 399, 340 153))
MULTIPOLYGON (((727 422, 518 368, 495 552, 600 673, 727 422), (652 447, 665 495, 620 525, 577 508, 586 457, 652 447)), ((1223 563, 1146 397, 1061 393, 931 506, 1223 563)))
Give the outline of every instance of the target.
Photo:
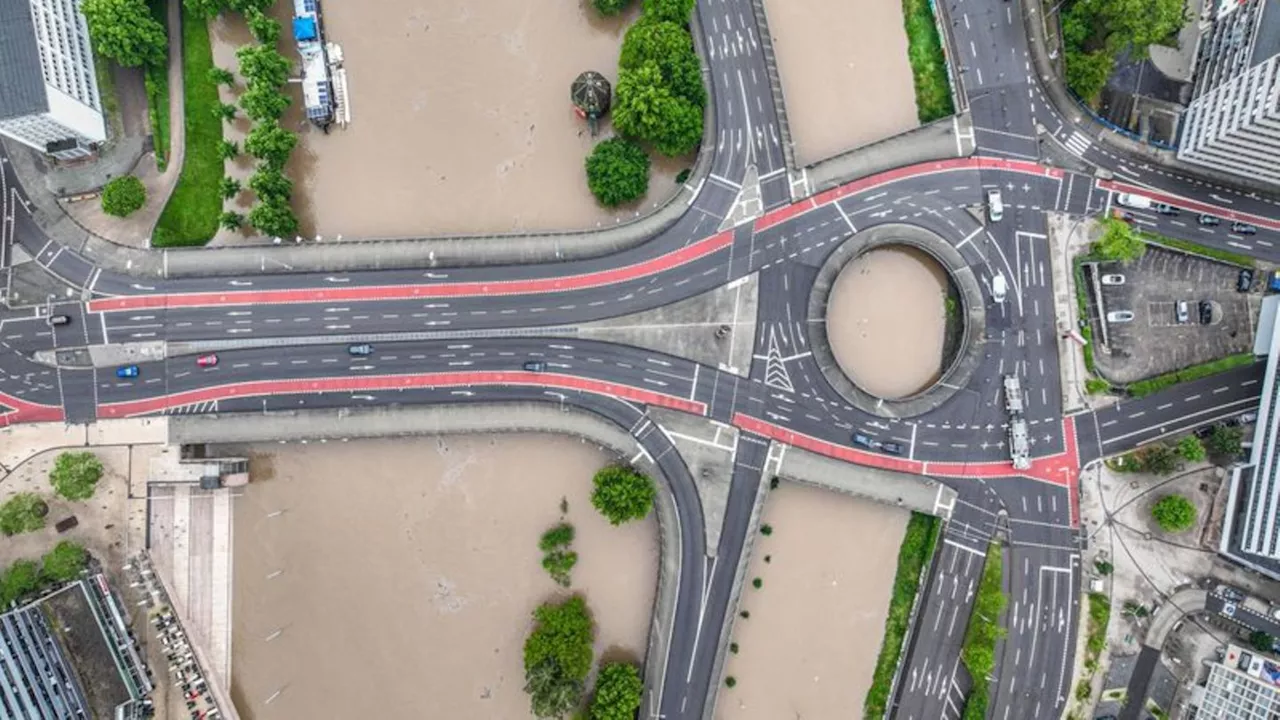
POLYGON ((302 395, 328 392, 378 392, 389 389, 421 389, 442 387, 475 386, 531 386, 558 389, 575 389, 594 395, 605 395, 643 405, 654 405, 695 415, 707 415, 707 404, 684 397, 676 397, 652 389, 627 384, 609 383, 576 375, 558 373, 509 372, 470 372, 470 373, 415 373, 404 375, 360 375, 338 378, 307 378, 288 380, 250 380, 207 388, 189 389, 173 395, 142 400, 105 402, 97 406, 99 418, 131 418, 160 413, 170 407, 182 407, 198 402, 230 400, 241 397, 261 397, 273 395, 302 395))

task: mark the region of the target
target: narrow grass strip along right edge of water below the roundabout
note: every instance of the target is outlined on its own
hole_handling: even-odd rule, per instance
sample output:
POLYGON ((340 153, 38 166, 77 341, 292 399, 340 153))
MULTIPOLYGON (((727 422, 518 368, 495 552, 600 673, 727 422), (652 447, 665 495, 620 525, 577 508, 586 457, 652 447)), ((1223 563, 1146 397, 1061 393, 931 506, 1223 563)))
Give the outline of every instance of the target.
POLYGON ((897 552, 897 574, 893 577, 893 596, 888 601, 888 618, 884 619, 884 641, 881 643, 879 657, 876 660, 876 675, 867 691, 863 703, 863 717, 883 717, 888 705, 890 685, 902 655, 902 642, 911 623, 911 607, 920 589, 920 577, 933 557, 938 541, 938 520, 922 512, 911 512, 902 536, 902 548, 897 552))

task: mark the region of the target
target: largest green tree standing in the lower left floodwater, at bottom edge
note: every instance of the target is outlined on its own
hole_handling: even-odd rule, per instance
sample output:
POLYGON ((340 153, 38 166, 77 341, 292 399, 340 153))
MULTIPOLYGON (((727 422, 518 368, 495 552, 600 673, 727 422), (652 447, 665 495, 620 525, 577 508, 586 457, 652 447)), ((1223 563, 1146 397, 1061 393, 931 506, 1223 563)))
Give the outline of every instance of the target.
POLYGON ((534 629, 525 639, 525 692, 538 717, 559 717, 579 705, 595 629, 581 596, 545 602, 534 611, 534 629))

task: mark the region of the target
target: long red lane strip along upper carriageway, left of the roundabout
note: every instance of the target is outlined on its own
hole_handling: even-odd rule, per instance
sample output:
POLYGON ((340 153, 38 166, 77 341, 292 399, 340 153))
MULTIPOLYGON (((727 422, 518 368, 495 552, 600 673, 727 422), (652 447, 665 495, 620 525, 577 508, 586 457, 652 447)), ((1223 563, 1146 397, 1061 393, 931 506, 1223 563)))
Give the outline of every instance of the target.
POLYGON ((90 313, 148 310, 166 307, 206 307, 220 305, 283 305, 301 302, 362 302, 379 300, 416 300, 439 297, 477 297, 485 295, 536 295, 604 287, 663 273, 733 243, 733 232, 705 237, 644 263, 596 270, 580 275, 535 278, 526 281, 460 282, 435 284, 399 284, 367 287, 325 287, 296 290, 260 290, 228 292, 188 292, 173 295, 129 295, 104 297, 88 302, 90 313))

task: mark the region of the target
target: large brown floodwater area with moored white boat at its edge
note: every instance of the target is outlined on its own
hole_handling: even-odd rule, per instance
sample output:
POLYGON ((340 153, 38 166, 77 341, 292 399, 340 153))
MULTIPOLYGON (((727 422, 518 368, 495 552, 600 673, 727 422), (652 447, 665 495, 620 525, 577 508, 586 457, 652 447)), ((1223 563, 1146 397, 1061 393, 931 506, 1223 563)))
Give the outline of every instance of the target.
MULTIPOLYGON (((276 3, 275 13, 284 20, 291 8, 276 3)), ((655 158, 649 195, 621 210, 586 188, 586 156, 611 128, 591 138, 570 83, 588 69, 616 79, 634 14, 604 20, 586 1, 521 0, 324 12, 346 56, 352 123, 328 136, 310 128, 294 88, 285 122, 306 129, 288 170, 305 236, 608 227, 675 195, 676 173, 692 164, 655 158)))

